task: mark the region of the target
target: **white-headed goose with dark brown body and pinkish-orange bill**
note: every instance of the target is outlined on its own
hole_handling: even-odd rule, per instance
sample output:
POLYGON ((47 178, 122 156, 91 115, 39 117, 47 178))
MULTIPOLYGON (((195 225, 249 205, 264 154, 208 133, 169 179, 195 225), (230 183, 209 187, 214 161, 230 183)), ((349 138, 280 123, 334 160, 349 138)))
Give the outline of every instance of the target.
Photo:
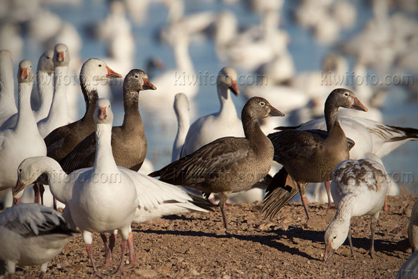
POLYGON ((94 132, 95 125, 93 113, 96 100, 99 98, 97 85, 100 80, 114 77, 122 76, 111 70, 111 68, 100 59, 88 59, 83 64, 80 73, 80 84, 82 85, 82 93, 84 101, 86 102, 86 113, 82 119, 56 128, 45 137, 48 157, 60 161, 70 153, 79 142, 84 140, 86 136, 94 132))

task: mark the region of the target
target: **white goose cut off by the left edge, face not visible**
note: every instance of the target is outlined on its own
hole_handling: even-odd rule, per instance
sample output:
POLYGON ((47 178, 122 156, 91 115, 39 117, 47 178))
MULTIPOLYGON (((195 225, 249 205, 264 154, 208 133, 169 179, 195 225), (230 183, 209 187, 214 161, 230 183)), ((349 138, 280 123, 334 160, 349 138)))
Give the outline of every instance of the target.
POLYGON ((12 54, 0 51, 0 125, 17 113, 12 54))

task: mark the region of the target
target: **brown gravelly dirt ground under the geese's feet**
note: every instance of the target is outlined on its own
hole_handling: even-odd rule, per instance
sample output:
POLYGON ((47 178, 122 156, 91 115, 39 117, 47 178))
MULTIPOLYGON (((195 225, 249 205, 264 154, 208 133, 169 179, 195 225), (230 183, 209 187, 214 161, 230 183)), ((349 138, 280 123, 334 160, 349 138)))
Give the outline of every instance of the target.
MULTIPOLYGON (((353 246, 348 241, 330 262, 323 262, 324 230, 335 209, 310 204, 312 229, 302 229, 302 204, 284 206, 272 223, 263 221, 261 202, 226 207, 231 231, 226 234, 218 209, 212 213, 187 213, 132 225, 139 264, 125 269, 124 278, 395 278, 410 255, 407 227, 417 196, 390 197, 389 211, 380 213, 375 249, 369 249, 369 217, 353 218, 353 246)), ((114 278, 120 260, 119 239, 114 262, 103 266, 104 249, 95 234, 93 256, 104 278, 114 278)), ((128 257, 126 255, 126 260, 128 257)), ((17 278, 34 278, 39 267, 20 266, 17 278)), ((91 278, 82 236, 68 242, 61 254, 49 263, 48 278, 91 278)))

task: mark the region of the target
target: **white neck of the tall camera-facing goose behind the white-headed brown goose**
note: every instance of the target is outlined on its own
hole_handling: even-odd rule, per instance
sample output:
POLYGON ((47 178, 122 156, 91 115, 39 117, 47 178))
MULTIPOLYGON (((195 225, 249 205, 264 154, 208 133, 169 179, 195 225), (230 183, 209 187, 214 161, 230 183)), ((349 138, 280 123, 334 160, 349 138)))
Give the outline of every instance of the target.
POLYGON ((70 82, 68 66, 56 66, 54 68, 54 97, 52 98, 49 119, 68 119, 68 104, 65 96, 65 82, 70 82))

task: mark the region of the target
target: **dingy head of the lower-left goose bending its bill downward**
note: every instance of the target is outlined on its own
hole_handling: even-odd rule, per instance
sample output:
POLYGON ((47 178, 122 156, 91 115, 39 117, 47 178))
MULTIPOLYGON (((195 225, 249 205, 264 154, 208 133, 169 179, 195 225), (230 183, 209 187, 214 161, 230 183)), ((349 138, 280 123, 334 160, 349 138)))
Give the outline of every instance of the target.
POLYGON ((42 174, 38 168, 39 160, 42 158, 45 157, 30 157, 20 163, 17 167, 17 182, 13 187, 13 196, 22 192, 26 186, 31 185, 42 174))

